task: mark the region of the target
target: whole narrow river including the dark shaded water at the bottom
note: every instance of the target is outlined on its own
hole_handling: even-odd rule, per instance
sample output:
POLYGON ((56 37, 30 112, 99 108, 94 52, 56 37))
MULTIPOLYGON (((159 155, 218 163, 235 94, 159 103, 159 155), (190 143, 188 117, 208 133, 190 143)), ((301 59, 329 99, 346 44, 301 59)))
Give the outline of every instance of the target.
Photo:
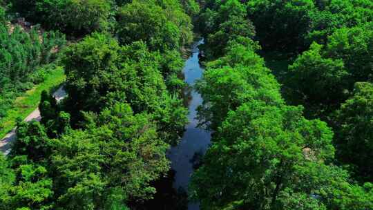
POLYGON ((203 128, 197 128, 196 108, 202 104, 202 97, 195 92, 193 84, 200 79, 203 68, 200 66, 198 45, 203 40, 196 42, 192 47, 192 55, 185 61, 183 73, 184 81, 189 88, 184 90, 185 105, 189 108, 189 124, 185 126, 185 132, 178 146, 170 149, 168 158, 171 160, 171 171, 165 178, 157 180, 152 185, 157 189, 154 199, 142 204, 136 209, 160 209, 160 210, 198 210, 198 204, 188 202, 187 190, 193 171, 201 164, 202 156, 206 152, 211 139, 211 133, 203 128))

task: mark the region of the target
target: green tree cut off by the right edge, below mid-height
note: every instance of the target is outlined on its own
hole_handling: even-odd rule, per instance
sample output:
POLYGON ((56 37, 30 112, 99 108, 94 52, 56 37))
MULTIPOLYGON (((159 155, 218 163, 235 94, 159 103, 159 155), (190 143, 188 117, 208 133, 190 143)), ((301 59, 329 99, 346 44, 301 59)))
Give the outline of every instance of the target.
POLYGON ((357 82, 350 99, 338 110, 336 149, 340 160, 352 164, 360 180, 372 182, 373 84, 357 82))

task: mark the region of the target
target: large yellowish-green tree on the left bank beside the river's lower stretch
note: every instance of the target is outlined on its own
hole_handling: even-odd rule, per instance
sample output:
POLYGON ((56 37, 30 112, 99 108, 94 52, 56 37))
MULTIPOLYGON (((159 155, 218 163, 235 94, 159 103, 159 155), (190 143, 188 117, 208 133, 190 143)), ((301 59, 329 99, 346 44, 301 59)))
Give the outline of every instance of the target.
POLYGON ((52 157, 57 206, 99 209, 113 196, 123 195, 117 197, 122 204, 151 198, 150 182, 169 170, 169 146, 157 137, 151 116, 114 104, 85 117, 86 129, 61 137, 52 157))

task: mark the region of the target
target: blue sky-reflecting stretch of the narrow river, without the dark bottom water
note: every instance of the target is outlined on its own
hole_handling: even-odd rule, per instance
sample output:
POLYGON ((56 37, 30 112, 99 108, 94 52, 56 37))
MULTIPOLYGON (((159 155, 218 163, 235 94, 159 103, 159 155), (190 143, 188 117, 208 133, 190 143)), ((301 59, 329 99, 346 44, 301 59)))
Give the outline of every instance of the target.
MULTIPOLYGON (((198 45, 202 44, 200 40, 193 44, 192 55, 185 61, 184 76, 185 82, 189 86, 193 86, 197 79, 200 79, 203 74, 203 68, 200 66, 198 54, 200 50, 198 45)), ((193 163, 198 159, 210 144, 211 133, 202 128, 197 128, 198 120, 195 119, 197 111, 195 110, 202 104, 202 97, 195 90, 191 90, 191 100, 189 101, 189 124, 186 126, 186 131, 178 146, 171 149, 169 159, 171 160, 171 168, 175 170, 175 189, 182 188, 187 190, 191 174, 193 173, 193 163)), ((188 210, 198 210, 198 204, 189 203, 188 210)))

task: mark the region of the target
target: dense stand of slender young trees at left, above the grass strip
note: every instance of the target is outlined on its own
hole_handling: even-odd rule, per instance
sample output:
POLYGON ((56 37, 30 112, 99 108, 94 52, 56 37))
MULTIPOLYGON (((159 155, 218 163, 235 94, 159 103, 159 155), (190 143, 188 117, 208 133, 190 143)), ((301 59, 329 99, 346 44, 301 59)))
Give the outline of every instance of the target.
POLYGON ((25 31, 19 26, 0 23, 0 122, 15 97, 44 80, 54 70, 50 64, 64 46, 59 32, 25 31))

